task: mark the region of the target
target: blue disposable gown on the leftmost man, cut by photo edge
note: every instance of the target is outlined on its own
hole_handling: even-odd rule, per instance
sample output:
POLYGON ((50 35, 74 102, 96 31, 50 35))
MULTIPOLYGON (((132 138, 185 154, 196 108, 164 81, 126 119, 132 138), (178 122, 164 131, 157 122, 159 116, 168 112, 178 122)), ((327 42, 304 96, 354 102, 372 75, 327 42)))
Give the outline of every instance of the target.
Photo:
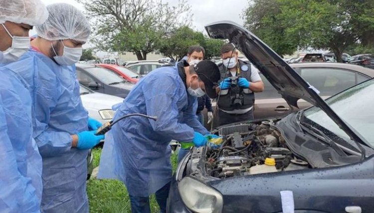
POLYGON ((31 98, 14 73, 0 73, 0 212, 38 213, 42 163, 32 138, 31 98))

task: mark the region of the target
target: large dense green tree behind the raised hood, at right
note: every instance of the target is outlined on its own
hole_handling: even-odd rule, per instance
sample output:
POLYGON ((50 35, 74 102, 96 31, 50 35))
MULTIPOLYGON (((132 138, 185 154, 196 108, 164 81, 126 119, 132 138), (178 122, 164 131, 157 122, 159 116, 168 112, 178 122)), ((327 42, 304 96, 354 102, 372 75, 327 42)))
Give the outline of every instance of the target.
POLYGON ((244 12, 245 23, 279 54, 284 45, 328 48, 342 61, 349 46, 374 43, 373 0, 266 1, 254 0, 244 12))

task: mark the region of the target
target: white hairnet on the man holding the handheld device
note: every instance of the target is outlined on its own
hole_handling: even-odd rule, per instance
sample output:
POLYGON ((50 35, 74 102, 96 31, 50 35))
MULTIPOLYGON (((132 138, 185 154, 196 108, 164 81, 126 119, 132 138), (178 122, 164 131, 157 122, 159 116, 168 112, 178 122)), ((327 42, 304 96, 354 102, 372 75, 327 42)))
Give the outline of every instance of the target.
POLYGON ((47 10, 48 19, 36 26, 38 36, 51 41, 60 39, 87 41, 91 28, 81 11, 67 3, 50 4, 47 10))

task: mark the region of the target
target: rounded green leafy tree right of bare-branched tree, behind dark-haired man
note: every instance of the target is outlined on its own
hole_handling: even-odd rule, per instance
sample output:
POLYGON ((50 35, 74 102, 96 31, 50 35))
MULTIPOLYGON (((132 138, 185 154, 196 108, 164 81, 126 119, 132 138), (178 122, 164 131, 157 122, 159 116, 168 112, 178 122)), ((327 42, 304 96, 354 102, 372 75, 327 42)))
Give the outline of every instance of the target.
POLYGON ((188 26, 182 26, 172 32, 160 44, 160 52, 176 61, 182 59, 188 47, 192 45, 203 46, 205 37, 201 32, 196 32, 188 26))

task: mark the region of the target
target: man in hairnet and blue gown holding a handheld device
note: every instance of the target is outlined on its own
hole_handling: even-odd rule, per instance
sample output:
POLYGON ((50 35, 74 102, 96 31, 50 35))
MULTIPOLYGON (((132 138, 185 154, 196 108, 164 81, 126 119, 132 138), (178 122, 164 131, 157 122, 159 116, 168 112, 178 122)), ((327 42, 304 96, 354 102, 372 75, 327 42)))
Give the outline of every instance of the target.
POLYGON ((42 156, 43 213, 87 213, 87 154, 104 139, 101 123, 82 106, 75 63, 90 35, 88 20, 74 6, 47 6, 32 49, 6 66, 24 82, 32 100, 33 137, 42 156))

